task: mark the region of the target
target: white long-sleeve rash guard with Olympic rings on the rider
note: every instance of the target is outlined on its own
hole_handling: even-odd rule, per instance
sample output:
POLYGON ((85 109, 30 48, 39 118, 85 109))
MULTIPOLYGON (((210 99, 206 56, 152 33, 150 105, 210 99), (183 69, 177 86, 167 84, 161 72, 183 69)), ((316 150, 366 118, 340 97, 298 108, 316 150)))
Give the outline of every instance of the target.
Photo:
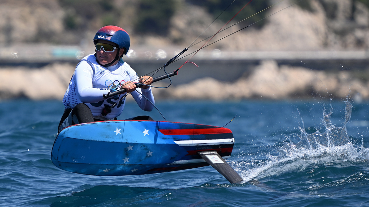
MULTIPOLYGON (((87 60, 88 59, 89 58, 87 58, 87 60)), ((138 82, 138 76, 125 62, 118 62, 110 67, 101 67, 99 65, 94 67, 94 64, 91 62, 81 61, 76 67, 69 88, 64 96, 63 103, 66 108, 73 108, 81 102, 87 103, 93 116, 101 116, 104 105, 112 106, 119 100, 117 97, 111 97, 107 100, 103 99, 103 94, 108 93, 108 87, 111 83, 124 84, 128 81, 138 82)), ((151 87, 147 89, 137 88, 136 90, 144 95, 144 97, 148 98, 152 103, 155 103, 151 87)), ((151 111, 154 106, 137 91, 131 92, 132 97, 142 110, 151 111)), ((120 97, 122 97, 122 95, 120 95, 120 97)), ((105 117, 111 119, 119 116, 123 111, 124 105, 125 99, 115 105, 114 108, 111 108, 111 113, 105 117)))

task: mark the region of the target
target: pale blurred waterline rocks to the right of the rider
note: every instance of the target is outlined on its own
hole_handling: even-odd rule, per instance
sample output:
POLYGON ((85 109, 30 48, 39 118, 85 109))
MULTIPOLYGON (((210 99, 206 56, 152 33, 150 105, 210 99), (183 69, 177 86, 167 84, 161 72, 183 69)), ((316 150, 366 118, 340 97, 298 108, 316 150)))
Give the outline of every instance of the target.
POLYGON ((233 83, 213 78, 198 79, 190 84, 158 92, 158 97, 172 99, 296 99, 303 97, 369 98, 369 83, 353 78, 352 71, 310 70, 304 67, 278 66, 263 61, 247 77, 233 83))

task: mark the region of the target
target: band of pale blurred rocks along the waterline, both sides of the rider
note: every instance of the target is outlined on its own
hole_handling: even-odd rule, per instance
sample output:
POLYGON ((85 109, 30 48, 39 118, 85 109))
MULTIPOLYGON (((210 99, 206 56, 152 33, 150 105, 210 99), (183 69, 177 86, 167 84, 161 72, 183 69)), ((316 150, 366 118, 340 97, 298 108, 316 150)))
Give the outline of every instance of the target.
MULTIPOLYGON (((54 63, 38 69, 1 67, 0 99, 61 100, 74 69, 75 66, 68 63, 54 63), (13 82, 14 77, 16 83, 13 82)), ((153 93, 157 100, 345 98, 349 94, 357 100, 369 99, 369 82, 358 78, 361 75, 357 73, 279 66, 274 60, 263 60, 232 83, 205 77, 166 89, 153 88, 153 93)), ((155 83, 156 86, 160 84, 155 83)))

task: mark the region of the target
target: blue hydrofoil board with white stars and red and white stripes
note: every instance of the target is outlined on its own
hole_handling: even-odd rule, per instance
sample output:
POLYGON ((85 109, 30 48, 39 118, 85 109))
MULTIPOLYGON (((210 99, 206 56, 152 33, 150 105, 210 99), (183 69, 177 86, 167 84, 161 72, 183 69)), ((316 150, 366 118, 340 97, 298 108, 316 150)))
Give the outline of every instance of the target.
POLYGON ((209 165, 198 152, 232 153, 232 131, 201 124, 117 120, 76 124, 55 139, 51 160, 86 175, 140 175, 209 165))

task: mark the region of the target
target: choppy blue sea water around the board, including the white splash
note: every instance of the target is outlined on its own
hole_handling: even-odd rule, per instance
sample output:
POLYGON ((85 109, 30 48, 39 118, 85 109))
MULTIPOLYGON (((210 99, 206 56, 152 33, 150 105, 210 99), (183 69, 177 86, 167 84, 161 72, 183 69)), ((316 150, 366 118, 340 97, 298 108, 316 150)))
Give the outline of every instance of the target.
MULTIPOLYGON (((369 206, 368 102, 156 106, 173 122, 223 126, 237 114, 227 162, 245 182, 230 184, 211 166, 111 177, 63 171, 50 159, 62 103, 18 99, 0 102, 0 206, 369 206)), ((135 103, 120 118, 138 115, 163 120, 135 103)))

